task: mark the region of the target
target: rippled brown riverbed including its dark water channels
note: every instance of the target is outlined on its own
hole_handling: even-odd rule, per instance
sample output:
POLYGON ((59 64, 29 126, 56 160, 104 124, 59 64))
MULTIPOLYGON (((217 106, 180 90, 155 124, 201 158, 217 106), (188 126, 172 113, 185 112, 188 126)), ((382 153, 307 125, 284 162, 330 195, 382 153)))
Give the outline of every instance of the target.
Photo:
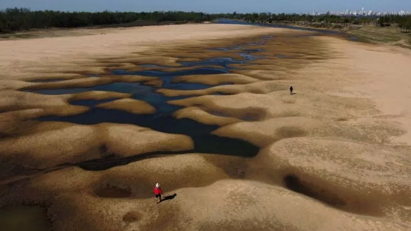
POLYGON ((222 25, 208 26, 186 36, 216 40, 8 75, 2 210, 42 205, 32 223, 55 230, 410 230, 411 54, 247 26, 233 30, 258 36, 218 39, 222 25))

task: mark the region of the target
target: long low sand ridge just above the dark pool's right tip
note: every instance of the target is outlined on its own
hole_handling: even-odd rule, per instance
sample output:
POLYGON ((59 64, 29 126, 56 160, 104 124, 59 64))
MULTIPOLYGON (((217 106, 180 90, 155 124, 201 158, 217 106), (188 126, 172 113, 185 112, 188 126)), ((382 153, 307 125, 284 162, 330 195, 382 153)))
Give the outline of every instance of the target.
MULTIPOLYGON (((203 115, 206 117, 206 115, 203 115)), ((244 139, 259 147, 293 137, 335 137, 360 142, 389 144, 391 137, 404 134, 398 125, 379 120, 329 122, 306 117, 283 117, 258 122, 241 122, 213 131, 221 137, 244 139)))

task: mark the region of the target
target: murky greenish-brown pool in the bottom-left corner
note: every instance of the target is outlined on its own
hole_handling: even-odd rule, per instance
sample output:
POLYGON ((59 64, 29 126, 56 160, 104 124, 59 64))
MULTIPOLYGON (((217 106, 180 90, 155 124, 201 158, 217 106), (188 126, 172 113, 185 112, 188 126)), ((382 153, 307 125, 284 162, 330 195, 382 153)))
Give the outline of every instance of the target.
POLYGON ((47 220, 47 209, 41 206, 13 205, 0 210, 3 231, 47 231, 51 230, 47 220))

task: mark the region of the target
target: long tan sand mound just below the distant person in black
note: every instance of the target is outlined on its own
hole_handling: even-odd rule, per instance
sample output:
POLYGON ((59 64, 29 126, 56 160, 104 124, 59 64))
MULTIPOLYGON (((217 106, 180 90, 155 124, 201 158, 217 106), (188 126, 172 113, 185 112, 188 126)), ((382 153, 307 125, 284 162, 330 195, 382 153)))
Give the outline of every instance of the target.
POLYGON ((283 88, 282 91, 269 94, 246 92, 235 95, 203 95, 169 101, 168 103, 185 107, 199 106, 233 117, 253 113, 258 115, 259 119, 304 116, 341 121, 356 117, 368 117, 378 113, 378 110, 367 99, 328 95, 325 97, 320 94, 302 94, 301 97, 294 97, 287 92, 287 89, 283 88))

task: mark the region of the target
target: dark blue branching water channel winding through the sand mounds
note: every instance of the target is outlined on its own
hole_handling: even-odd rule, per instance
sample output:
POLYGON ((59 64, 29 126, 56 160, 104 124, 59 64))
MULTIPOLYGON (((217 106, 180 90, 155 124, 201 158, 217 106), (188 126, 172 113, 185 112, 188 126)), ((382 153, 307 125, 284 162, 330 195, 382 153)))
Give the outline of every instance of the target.
MULTIPOLYGON (((142 100, 151 104, 156 108, 154 114, 133 114, 123 110, 96 108, 95 106, 100 103, 110 102, 116 100, 114 98, 106 100, 82 100, 71 102, 73 105, 82 105, 90 107, 90 110, 77 115, 70 115, 66 117, 47 116, 41 117, 40 121, 64 121, 76 124, 99 124, 103 122, 120 123, 120 124, 134 124, 142 127, 148 127, 157 131, 175 134, 185 134, 190 136, 194 141, 194 149, 185 152, 178 153, 216 153, 221 155, 236 155, 242 157, 253 157, 259 151, 259 148, 239 139, 223 138, 211 134, 212 131, 219 128, 217 125, 206 125, 196 122, 191 119, 176 119, 173 117, 173 112, 181 109, 180 106, 168 104, 167 101, 179 100, 192 97, 190 95, 179 97, 166 97, 165 95, 156 92, 157 89, 175 89, 175 90, 201 90, 212 87, 207 84, 198 83, 173 83, 173 79, 177 76, 184 75, 199 75, 199 74, 223 74, 230 73, 231 64, 245 64, 256 59, 264 58, 263 56, 256 55, 262 49, 243 48, 252 45, 265 44, 266 40, 272 39, 271 36, 264 37, 261 42, 246 43, 244 46, 236 45, 229 48, 216 48, 217 50, 232 50, 239 49, 238 54, 241 56, 239 59, 233 59, 231 57, 214 57, 211 59, 204 59, 199 62, 181 62, 181 67, 192 67, 192 69, 177 70, 175 67, 163 67, 154 64, 143 64, 144 67, 154 67, 159 69, 154 70, 142 70, 142 71, 127 71, 122 69, 112 70, 110 74, 114 75, 142 75, 142 76, 154 76, 163 81, 162 86, 146 86, 144 83, 128 83, 117 82, 106 85, 84 87, 84 88, 64 88, 64 89, 42 89, 34 90, 33 92, 42 94, 67 94, 67 93, 79 93, 91 90, 99 91, 114 91, 120 93, 130 93, 132 98, 136 100, 142 100), (221 68, 211 68, 205 66, 219 66, 221 68), (166 68, 166 69, 164 69, 166 68)), ((91 75, 88 75, 91 76, 91 75)), ((228 83, 231 84, 231 83, 228 83)), ((224 93, 216 93, 224 94, 224 93)), ((244 120, 254 120, 254 117, 241 118, 244 120)), ((170 152, 169 152, 170 153, 170 152)), ((109 168, 112 166, 127 164, 132 161, 136 161, 140 158, 149 158, 153 155, 164 155, 162 152, 145 153, 135 157, 128 157, 123 159, 114 160, 91 160, 78 165, 84 169, 100 170, 109 168)))

